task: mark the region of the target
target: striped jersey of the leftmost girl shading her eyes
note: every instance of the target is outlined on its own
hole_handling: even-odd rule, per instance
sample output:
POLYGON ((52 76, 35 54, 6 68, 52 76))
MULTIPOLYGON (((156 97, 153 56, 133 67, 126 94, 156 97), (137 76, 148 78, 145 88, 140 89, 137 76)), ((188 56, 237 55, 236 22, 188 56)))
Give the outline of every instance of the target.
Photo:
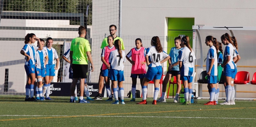
MULTIPOLYGON (((25 62, 25 65, 32 65, 36 63, 36 50, 38 49, 38 47, 31 45, 31 44, 25 44, 24 47, 21 49, 23 50, 26 54, 28 54, 28 56, 31 57, 31 59, 29 61, 25 62)), ((25 60, 27 59, 27 56, 25 56, 25 60)))

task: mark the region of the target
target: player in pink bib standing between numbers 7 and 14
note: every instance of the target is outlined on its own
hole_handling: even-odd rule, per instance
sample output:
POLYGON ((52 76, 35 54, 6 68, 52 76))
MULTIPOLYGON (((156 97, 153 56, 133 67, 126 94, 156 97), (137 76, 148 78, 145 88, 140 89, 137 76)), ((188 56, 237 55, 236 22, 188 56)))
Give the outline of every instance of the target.
POLYGON ((135 92, 137 77, 140 78, 140 86, 142 86, 142 81, 146 74, 146 51, 147 49, 143 47, 142 41, 140 38, 135 40, 135 48, 132 48, 131 51, 125 56, 126 59, 132 64, 132 100, 135 101, 135 92), (132 60, 130 59, 132 57, 132 60))

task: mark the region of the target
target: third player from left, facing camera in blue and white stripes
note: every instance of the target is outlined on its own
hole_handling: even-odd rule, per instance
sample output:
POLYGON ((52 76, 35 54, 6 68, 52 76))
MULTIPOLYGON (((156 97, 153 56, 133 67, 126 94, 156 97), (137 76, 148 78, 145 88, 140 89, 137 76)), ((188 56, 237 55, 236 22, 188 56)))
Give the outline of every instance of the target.
POLYGON ((57 51, 52 48, 53 39, 51 37, 48 37, 46 39, 46 46, 44 47, 44 50, 49 58, 48 62, 46 63, 46 74, 44 78, 44 89, 43 89, 43 97, 45 94, 45 100, 53 100, 49 97, 50 94, 50 84, 52 82, 53 76, 55 76, 55 70, 59 68, 60 59, 57 54, 57 51), (56 59, 56 67, 54 59, 56 59))

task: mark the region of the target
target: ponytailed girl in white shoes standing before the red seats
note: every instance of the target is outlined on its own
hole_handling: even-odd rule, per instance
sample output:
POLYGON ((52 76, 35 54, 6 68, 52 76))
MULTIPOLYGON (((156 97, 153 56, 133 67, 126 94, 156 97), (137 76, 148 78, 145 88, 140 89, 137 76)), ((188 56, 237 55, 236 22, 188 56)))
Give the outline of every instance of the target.
POLYGON ((220 37, 222 44, 227 45, 224 51, 224 62, 221 67, 224 67, 224 79, 227 88, 227 98, 226 101, 220 103, 221 105, 230 105, 231 93, 232 93, 232 86, 231 86, 231 79, 233 73, 236 72, 236 65, 234 61, 237 60, 236 50, 234 48, 233 41, 231 40, 228 33, 223 34, 220 37))

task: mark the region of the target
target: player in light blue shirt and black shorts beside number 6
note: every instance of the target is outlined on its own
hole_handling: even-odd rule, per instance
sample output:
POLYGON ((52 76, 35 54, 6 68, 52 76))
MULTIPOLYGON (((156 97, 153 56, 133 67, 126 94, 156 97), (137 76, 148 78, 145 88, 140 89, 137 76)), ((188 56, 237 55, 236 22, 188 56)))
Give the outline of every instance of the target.
POLYGON ((169 67, 163 81, 162 96, 159 99, 157 99, 156 102, 166 102, 165 100, 166 87, 169 80, 172 78, 172 76, 176 76, 176 81, 177 81, 177 90, 176 90, 176 95, 173 102, 175 103, 178 102, 178 97, 181 90, 180 68, 179 68, 178 56, 179 56, 179 51, 183 49, 180 46, 181 44, 180 36, 174 39, 174 44, 175 44, 175 47, 172 47, 169 53, 169 56, 170 56, 170 59, 168 59, 169 67))

